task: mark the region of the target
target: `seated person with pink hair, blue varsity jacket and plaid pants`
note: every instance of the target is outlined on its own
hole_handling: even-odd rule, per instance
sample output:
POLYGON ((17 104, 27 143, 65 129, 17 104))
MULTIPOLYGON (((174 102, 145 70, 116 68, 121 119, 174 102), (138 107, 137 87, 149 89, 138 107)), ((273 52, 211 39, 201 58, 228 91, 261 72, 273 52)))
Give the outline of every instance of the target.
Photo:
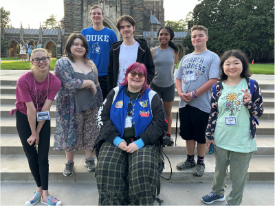
POLYGON ((146 79, 145 65, 130 65, 98 113, 100 136, 105 140, 96 166, 98 205, 153 205, 155 201, 159 138, 168 124, 162 101, 146 79))

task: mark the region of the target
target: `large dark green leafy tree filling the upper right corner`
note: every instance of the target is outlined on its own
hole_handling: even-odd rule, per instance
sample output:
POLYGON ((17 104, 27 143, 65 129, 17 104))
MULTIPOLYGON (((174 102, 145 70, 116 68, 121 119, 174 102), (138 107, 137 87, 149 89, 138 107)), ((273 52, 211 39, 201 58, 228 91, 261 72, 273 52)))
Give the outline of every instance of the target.
MULTIPOLYGON (((208 28, 208 49, 221 54, 229 49, 244 52, 272 49, 274 1, 200 0, 192 12, 193 24, 208 28)), ((189 38, 190 36, 186 36, 189 38)))

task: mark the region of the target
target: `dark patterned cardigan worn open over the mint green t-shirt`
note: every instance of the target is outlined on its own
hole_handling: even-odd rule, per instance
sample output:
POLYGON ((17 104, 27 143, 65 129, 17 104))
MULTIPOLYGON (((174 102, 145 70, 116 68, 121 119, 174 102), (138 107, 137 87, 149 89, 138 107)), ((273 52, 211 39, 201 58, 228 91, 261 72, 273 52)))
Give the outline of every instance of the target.
MULTIPOLYGON (((250 89, 250 78, 245 79, 248 83, 248 89, 250 89)), ((216 97, 214 97, 214 93, 212 91, 210 114, 208 119, 208 126, 206 128, 206 138, 210 140, 214 139, 212 137, 212 134, 214 133, 214 130, 216 128, 216 122, 219 114, 218 102, 219 96, 221 95, 221 90, 223 89, 221 81, 217 82, 217 84, 215 84, 215 87, 217 90, 217 95, 216 97)), ((250 102, 243 102, 243 105, 246 106, 246 108, 248 108, 248 111, 250 112, 250 135, 251 139, 253 139, 254 137, 256 137, 256 122, 254 121, 254 116, 261 117, 261 115, 263 115, 263 97, 258 82, 255 81, 252 100, 250 100, 250 102)))

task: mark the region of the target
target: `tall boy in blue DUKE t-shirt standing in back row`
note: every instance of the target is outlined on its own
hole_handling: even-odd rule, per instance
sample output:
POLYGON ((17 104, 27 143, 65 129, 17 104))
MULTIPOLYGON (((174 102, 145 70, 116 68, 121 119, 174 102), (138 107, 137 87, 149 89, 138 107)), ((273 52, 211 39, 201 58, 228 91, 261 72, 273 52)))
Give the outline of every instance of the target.
POLYGON ((118 41, 113 30, 103 25, 104 13, 99 5, 94 5, 90 10, 93 26, 83 29, 80 33, 85 36, 89 44, 88 58, 93 60, 98 68, 98 81, 103 98, 107 97, 107 67, 109 52, 112 43, 118 41))

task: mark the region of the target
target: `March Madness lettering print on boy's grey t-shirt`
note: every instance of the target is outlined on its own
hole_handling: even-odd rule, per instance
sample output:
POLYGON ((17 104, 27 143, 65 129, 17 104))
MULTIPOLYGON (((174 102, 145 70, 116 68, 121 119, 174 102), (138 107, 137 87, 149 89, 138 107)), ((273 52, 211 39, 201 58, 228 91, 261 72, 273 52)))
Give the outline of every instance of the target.
POLYGON ((189 83, 198 80, 206 72, 206 67, 203 66, 204 58, 194 57, 188 58, 182 62, 181 75, 182 82, 189 83))

